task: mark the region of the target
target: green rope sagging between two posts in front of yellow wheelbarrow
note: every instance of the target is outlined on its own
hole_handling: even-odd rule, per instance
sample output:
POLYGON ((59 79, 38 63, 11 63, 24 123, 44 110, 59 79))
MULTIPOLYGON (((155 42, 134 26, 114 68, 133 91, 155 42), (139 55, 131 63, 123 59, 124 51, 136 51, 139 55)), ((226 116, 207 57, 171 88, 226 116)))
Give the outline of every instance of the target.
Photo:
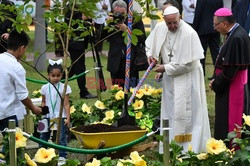
POLYGON ((145 141, 150 135, 153 135, 156 133, 156 131, 153 131, 153 132, 150 132, 148 134, 145 134, 144 136, 134 140, 134 141, 131 141, 129 143, 126 143, 126 144, 123 144, 123 145, 119 145, 119 146, 115 146, 115 147, 110 147, 110 148, 104 148, 104 149, 79 149, 79 148, 72 148, 72 147, 67 147, 67 146, 62 146, 62 145, 57 145, 57 144, 54 144, 54 143, 49 143, 49 142, 46 142, 44 140, 41 140, 41 139, 38 139, 34 136, 31 136, 25 132, 22 132, 23 135, 25 137, 27 137, 28 139, 36 142, 36 143, 39 143, 39 144, 42 144, 46 147, 50 147, 50 148, 54 148, 54 149, 59 149, 59 150, 64 150, 64 151, 67 151, 67 152, 72 152, 72 153, 81 153, 81 154, 102 154, 102 153, 109 153, 109 152, 114 152, 114 151, 118 151, 118 150, 121 150, 121 149, 124 149, 124 148, 128 148, 128 147, 131 147, 135 144, 138 144, 142 141, 145 141))

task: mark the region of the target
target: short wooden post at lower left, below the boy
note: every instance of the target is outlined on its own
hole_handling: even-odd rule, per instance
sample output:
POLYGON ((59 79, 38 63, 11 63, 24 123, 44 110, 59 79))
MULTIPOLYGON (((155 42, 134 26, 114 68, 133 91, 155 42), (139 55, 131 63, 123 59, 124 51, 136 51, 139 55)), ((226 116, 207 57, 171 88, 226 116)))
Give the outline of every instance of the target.
POLYGON ((10 148, 10 166, 16 166, 16 121, 11 119, 8 123, 9 129, 11 130, 9 132, 9 148, 10 148))

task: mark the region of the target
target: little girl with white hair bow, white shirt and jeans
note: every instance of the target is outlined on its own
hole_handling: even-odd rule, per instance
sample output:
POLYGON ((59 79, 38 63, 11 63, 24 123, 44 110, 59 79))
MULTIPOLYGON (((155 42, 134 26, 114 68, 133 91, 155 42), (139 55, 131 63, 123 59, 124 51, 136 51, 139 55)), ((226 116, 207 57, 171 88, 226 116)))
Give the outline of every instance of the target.
MULTIPOLYGON (((48 106, 49 107, 49 114, 45 115, 45 118, 48 119, 50 122, 53 119, 59 118, 60 112, 60 105, 61 105, 61 98, 57 90, 62 95, 64 84, 61 83, 61 78, 63 76, 63 68, 62 68, 62 59, 58 61, 53 61, 49 59, 49 66, 47 68, 48 78, 51 83, 47 83, 42 86, 41 94, 42 94, 42 107, 48 106), (54 86, 53 86, 53 85, 54 86)), ((63 114, 62 114, 62 124, 61 124, 61 133, 59 144, 63 146, 67 146, 67 127, 70 124, 70 104, 69 104, 69 94, 71 93, 71 88, 68 85, 65 98, 64 98, 64 107, 63 107, 63 114)), ((58 121, 57 121, 58 122, 58 121)), ((41 133, 40 139, 48 141, 50 138, 51 130, 45 133, 41 133)), ((65 151, 59 151, 60 158, 66 158, 67 153, 65 151)))

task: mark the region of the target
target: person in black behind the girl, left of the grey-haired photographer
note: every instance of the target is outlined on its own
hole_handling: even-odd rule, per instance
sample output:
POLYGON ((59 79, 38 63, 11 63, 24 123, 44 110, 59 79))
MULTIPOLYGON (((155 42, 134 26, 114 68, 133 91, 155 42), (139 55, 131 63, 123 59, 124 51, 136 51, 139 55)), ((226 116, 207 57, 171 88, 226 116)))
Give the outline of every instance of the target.
MULTIPOLYGON (((69 24, 70 15, 71 15, 71 11, 69 10, 66 13, 66 19, 65 19, 65 22, 67 24, 69 24)), ((85 20, 87 22, 88 18, 84 16, 83 13, 79 11, 75 11, 73 13, 72 20, 85 20)), ((79 29, 78 24, 74 24, 72 28, 77 29, 74 31, 75 36, 81 36, 81 34, 84 31, 83 29, 79 29)), ((73 38, 74 37, 70 39, 69 48, 68 48, 71 63, 73 64, 69 73, 69 78, 72 77, 74 74, 78 75, 86 71, 84 53, 85 53, 85 49, 88 47, 88 40, 89 40, 88 36, 84 38, 76 39, 76 40, 74 40, 73 38)), ((84 98, 84 99, 97 98, 96 95, 91 94, 86 88, 85 75, 77 78, 77 84, 80 89, 80 98, 84 98)))

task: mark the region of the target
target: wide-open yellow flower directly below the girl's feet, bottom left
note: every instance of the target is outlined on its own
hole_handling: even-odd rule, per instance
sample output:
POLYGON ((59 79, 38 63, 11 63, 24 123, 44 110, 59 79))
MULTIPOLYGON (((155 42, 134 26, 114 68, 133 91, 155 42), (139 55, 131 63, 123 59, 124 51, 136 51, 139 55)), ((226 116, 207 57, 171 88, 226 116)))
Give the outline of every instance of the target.
POLYGON ((56 156, 55 149, 40 148, 35 154, 35 161, 38 163, 48 163, 56 156))

